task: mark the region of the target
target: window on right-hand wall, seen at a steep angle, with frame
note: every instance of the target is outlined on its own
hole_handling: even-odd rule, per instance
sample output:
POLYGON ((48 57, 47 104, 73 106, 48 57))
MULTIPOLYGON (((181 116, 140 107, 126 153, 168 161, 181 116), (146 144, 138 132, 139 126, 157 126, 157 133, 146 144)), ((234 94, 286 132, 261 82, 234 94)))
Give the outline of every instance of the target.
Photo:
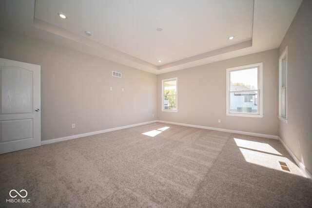
POLYGON ((287 123, 287 47, 279 57, 279 119, 287 123))

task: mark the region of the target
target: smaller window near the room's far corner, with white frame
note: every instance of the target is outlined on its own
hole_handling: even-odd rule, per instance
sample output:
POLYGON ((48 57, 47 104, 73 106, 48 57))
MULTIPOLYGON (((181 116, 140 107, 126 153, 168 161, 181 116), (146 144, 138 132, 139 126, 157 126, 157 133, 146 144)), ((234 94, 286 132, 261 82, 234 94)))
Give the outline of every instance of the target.
POLYGON ((162 111, 177 112, 177 78, 163 79, 162 111))

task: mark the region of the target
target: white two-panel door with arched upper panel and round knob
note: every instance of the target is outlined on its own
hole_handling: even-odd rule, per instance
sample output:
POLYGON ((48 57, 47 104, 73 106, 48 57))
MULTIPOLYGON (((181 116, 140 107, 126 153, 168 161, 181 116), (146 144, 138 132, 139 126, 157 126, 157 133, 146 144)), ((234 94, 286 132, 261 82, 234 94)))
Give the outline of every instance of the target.
POLYGON ((40 146, 40 66, 0 58, 0 93, 0 154, 40 146))

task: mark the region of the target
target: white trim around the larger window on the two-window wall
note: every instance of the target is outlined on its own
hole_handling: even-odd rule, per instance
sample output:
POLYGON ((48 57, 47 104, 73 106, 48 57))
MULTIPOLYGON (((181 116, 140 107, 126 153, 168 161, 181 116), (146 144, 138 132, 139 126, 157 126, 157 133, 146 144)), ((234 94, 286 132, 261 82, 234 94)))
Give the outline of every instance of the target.
POLYGON ((255 117, 255 118, 262 118, 263 117, 263 86, 262 86, 262 81, 263 81, 263 63, 255 63, 255 64, 249 64, 245 66, 238 66, 238 67, 233 67, 233 68, 228 68, 226 69, 226 115, 231 115, 231 116, 242 116, 242 117, 255 117), (235 70, 242 70, 242 69, 248 69, 252 67, 259 67, 259 77, 258 77, 258 110, 259 113, 257 114, 245 114, 245 113, 230 113, 229 112, 229 104, 230 104, 230 71, 235 71, 235 70))

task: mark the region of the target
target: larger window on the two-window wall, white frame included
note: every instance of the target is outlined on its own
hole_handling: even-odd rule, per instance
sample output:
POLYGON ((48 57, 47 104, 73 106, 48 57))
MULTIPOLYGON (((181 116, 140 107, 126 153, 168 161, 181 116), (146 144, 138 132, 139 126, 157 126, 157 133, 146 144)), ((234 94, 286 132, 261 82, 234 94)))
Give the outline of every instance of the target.
POLYGON ((226 114, 263 117, 262 63, 226 70, 226 114))

